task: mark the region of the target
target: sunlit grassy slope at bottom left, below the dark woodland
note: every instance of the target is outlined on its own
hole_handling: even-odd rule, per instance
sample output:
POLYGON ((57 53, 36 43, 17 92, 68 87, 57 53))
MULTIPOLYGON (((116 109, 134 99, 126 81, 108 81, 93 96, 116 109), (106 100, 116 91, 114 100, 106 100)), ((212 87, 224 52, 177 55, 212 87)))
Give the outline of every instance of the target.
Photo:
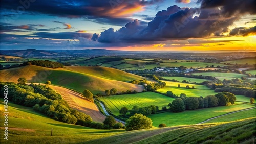
MULTIPOLYGON (((0 99, 3 113, 3 99, 0 99)), ((8 141, 7 143, 77 143, 107 137, 124 130, 97 130, 55 121, 32 108, 8 103, 8 141), (51 135, 53 129, 53 136, 51 135)), ((3 132, 1 123, 1 131, 3 132)), ((4 137, 1 136, 3 142, 4 137)))

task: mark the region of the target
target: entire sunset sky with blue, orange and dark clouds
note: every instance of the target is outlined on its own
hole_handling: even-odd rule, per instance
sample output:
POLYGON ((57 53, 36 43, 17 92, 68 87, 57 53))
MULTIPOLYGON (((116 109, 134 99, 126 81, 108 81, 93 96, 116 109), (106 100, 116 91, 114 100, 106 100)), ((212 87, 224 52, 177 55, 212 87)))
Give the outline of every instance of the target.
POLYGON ((0 49, 256 51, 255 0, 1 0, 0 49))

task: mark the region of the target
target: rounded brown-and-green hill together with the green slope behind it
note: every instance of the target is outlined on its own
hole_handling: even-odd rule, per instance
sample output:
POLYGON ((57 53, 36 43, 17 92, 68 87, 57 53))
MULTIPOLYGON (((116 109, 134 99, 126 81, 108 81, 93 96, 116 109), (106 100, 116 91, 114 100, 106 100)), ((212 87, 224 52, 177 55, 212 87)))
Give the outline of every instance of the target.
POLYGON ((45 83, 47 80, 50 80, 52 84, 65 86, 80 92, 89 89, 94 94, 98 92, 104 93, 106 89, 110 90, 111 88, 116 88, 118 92, 128 89, 139 92, 144 89, 142 85, 127 83, 134 79, 141 80, 143 77, 112 68, 67 67, 52 69, 27 65, 0 70, 0 81, 2 82, 17 82, 20 77, 25 77, 28 82, 35 83, 45 83))

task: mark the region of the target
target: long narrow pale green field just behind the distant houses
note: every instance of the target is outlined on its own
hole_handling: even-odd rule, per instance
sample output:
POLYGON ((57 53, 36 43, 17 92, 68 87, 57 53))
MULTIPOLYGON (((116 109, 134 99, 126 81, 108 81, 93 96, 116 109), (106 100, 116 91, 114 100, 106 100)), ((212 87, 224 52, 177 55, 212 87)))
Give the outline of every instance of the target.
POLYGON ((227 66, 224 64, 218 64, 218 63, 205 63, 205 62, 172 62, 172 63, 160 63, 159 67, 180 67, 184 66, 187 68, 201 68, 201 67, 206 67, 206 66, 211 66, 214 65, 214 67, 219 66, 227 66))

